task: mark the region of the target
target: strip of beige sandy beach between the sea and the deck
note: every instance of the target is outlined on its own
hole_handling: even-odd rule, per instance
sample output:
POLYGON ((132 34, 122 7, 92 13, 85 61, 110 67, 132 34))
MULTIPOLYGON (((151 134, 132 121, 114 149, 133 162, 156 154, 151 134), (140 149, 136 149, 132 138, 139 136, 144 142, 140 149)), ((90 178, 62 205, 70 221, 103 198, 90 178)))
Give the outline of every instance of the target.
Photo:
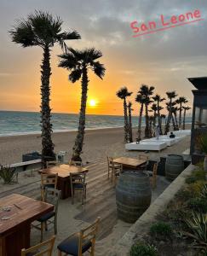
MULTIPOLYGON (((190 128, 188 125, 187 129, 190 128)), ((133 129, 134 139, 136 137, 136 129, 133 129)), ((142 132, 143 133, 143 132, 142 132)), ((76 137, 76 131, 55 132, 53 134, 53 142, 55 143, 55 153, 60 150, 66 151, 66 159, 70 159, 72 154, 72 146, 76 137)), ((176 153, 181 154, 189 148, 190 138, 186 137, 182 143, 173 145, 161 152, 164 154, 176 153)), ((32 151, 41 152, 40 135, 22 135, 11 137, 0 137, 0 163, 13 164, 22 160, 22 154, 32 151)), ((106 155, 131 155, 136 156, 137 152, 127 152, 124 149, 124 130, 123 128, 111 128, 100 130, 89 130, 85 132, 83 145, 83 163, 92 162, 96 159, 105 158, 106 155)), ((151 153, 152 157, 158 156, 158 153, 151 153)))

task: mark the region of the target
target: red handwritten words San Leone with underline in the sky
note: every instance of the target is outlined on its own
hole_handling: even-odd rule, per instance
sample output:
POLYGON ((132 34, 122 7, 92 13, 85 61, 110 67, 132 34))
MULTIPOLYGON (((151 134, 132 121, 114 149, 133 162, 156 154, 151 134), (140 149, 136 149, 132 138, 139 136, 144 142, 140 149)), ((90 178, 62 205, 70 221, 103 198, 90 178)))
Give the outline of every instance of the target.
POLYGON ((162 31, 175 26, 186 25, 189 23, 196 22, 198 20, 204 20, 204 19, 201 19, 200 11, 196 9, 193 12, 187 12, 186 14, 173 15, 168 19, 164 17, 164 15, 160 15, 160 20, 149 21, 147 23, 141 23, 140 25, 138 21, 135 20, 130 23, 130 27, 134 32, 133 37, 135 38, 144 34, 162 31))

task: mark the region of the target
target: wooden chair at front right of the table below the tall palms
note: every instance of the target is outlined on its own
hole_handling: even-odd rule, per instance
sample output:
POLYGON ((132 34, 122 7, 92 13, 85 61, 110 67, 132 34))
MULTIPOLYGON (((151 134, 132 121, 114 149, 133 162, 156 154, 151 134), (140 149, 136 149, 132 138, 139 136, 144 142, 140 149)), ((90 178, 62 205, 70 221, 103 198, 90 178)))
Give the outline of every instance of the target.
POLYGON ((81 201, 83 205, 83 199, 86 199, 86 185, 85 182, 86 172, 82 173, 70 173, 70 180, 71 180, 71 193, 72 193, 72 204, 74 203, 74 193, 75 190, 81 190, 82 196, 81 201))

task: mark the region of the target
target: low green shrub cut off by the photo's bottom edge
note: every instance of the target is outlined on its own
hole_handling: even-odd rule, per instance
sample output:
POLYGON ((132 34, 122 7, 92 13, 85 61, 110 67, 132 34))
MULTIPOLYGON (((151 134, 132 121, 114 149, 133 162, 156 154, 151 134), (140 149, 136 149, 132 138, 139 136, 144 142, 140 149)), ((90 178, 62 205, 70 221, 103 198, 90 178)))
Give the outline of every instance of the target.
POLYGON ((158 256, 158 250, 149 244, 137 243, 131 247, 130 256, 158 256))

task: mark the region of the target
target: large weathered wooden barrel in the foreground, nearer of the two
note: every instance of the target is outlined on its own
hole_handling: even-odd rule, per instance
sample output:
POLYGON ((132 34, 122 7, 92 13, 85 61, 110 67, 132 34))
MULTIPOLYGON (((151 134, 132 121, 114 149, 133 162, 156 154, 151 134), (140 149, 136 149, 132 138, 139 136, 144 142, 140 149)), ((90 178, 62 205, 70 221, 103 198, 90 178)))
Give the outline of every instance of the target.
POLYGON ((151 196, 147 172, 123 172, 116 186, 118 218, 134 223, 150 206, 151 196))

